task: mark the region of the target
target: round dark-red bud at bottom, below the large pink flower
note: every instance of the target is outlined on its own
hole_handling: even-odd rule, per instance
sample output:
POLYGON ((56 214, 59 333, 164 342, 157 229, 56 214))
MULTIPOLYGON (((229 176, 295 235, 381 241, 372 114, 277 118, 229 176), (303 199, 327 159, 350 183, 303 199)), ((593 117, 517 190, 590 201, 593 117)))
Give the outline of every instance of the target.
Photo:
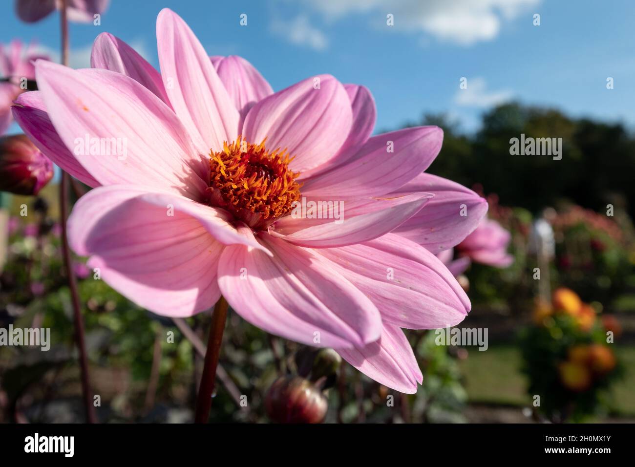
POLYGON ((311 381, 298 376, 283 376, 271 385, 265 396, 267 415, 278 423, 321 423, 328 400, 311 381))

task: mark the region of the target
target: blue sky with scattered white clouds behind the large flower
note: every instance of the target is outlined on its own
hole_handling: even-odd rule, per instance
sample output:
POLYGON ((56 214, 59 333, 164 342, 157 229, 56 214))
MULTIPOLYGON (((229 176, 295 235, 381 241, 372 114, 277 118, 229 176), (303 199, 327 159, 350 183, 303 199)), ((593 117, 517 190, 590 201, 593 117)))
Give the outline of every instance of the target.
MULTIPOLYGON (((57 51, 57 13, 22 24, 12 3, 0 7, 0 42, 35 39, 57 51)), ((274 90, 319 73, 368 86, 376 130, 446 112, 473 131, 483 111, 509 99, 635 125, 631 0, 111 0, 100 26, 71 25, 71 65, 86 66, 93 39, 107 31, 158 67, 163 7, 185 19, 210 55, 242 55, 274 90)))

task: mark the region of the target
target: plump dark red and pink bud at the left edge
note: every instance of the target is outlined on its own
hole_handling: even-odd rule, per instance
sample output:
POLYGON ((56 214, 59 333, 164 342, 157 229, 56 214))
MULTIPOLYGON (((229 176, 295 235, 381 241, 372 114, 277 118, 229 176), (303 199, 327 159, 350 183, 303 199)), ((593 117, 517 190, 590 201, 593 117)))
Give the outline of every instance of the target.
POLYGON ((26 135, 0 138, 0 191, 32 195, 53 177, 53 163, 26 135))

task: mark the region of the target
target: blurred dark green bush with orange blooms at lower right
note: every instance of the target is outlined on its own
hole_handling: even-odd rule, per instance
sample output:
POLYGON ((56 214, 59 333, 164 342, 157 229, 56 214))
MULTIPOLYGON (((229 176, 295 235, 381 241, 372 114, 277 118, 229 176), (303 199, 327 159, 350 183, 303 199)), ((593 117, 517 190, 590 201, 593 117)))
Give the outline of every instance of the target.
POLYGON ((539 414, 580 422, 606 408, 606 390, 622 371, 613 351, 616 332, 615 320, 600 320, 568 288, 555 290, 551 304, 537 302, 533 324, 521 333, 521 351, 539 414))

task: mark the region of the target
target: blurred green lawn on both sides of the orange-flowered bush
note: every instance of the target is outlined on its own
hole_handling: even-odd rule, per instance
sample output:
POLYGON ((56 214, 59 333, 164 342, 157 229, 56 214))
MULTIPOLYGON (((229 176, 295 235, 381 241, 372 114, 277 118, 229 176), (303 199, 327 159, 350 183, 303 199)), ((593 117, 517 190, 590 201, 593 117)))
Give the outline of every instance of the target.
MULTIPOLYGON (((490 346, 486 351, 469 348, 469 357, 459 365, 465 377, 470 402, 529 405, 527 381, 520 372, 520 351, 514 346, 490 346)), ((635 416, 635 346, 617 347, 625 374, 612 391, 617 414, 635 416)))

